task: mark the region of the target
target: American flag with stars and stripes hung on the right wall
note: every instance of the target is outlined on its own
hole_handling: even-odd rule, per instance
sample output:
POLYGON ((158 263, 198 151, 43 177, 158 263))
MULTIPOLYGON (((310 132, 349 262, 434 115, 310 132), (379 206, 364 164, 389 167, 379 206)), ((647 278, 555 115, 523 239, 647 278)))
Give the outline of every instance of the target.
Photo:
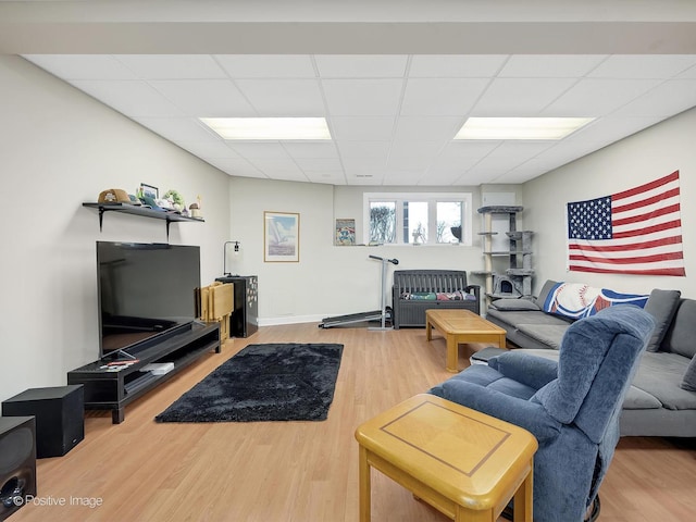
POLYGON ((568 203, 568 268, 686 275, 679 171, 622 192, 568 203))

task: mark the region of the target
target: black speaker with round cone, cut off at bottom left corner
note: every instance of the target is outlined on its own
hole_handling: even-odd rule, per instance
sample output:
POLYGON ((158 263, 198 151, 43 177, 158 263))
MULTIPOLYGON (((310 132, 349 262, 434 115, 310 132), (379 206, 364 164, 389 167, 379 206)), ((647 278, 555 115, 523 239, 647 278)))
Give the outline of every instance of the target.
POLYGON ((35 434, 33 417, 0 417, 0 520, 36 496, 35 434))

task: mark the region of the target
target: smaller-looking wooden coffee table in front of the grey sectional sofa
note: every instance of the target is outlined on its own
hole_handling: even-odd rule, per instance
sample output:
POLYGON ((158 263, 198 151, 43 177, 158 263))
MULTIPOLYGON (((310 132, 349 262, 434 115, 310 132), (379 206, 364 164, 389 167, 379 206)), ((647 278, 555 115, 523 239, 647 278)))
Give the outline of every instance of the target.
POLYGON ((447 339, 447 371, 459 371, 460 343, 496 343, 505 348, 505 330, 470 310, 425 310, 425 337, 433 338, 433 327, 447 339))

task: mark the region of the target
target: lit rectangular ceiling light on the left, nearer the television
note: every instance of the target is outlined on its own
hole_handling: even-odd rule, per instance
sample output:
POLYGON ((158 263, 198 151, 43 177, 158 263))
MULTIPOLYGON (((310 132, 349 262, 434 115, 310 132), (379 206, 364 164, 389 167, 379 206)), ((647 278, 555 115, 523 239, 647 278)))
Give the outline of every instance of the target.
POLYGON ((223 139, 331 139, 323 117, 201 117, 223 139))

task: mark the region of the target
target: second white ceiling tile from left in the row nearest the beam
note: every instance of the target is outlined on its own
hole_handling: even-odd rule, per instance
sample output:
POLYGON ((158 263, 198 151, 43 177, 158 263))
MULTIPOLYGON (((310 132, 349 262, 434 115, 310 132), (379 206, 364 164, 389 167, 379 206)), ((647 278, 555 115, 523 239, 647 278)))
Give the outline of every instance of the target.
POLYGON ((226 78, 208 54, 116 54, 114 58, 144 79, 226 78))

